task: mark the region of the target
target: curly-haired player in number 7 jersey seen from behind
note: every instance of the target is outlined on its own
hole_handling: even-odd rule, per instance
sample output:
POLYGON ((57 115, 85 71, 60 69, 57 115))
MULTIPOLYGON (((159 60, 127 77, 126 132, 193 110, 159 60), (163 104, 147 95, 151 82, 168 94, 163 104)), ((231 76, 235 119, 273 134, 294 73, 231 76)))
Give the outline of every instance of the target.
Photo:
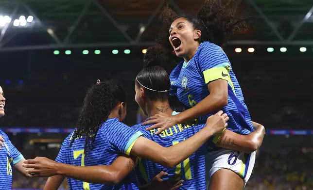
MULTIPOLYGON (((125 99, 125 92, 122 90, 121 86, 113 81, 104 81, 95 84, 87 92, 76 129, 65 139, 59 155, 56 158, 56 162, 63 163, 63 165, 53 165, 54 169, 58 166, 63 167, 63 169, 65 168, 65 171, 70 173, 68 175, 76 178, 68 178, 71 189, 138 189, 135 174, 128 175, 117 185, 100 185, 97 181, 97 176, 93 175, 92 170, 87 169, 87 171, 83 171, 82 168, 84 167, 76 167, 75 170, 65 164, 75 166, 92 165, 93 167, 98 165, 110 165, 119 155, 126 154, 150 159, 171 168, 188 158, 201 147, 210 136, 222 130, 228 120, 227 115, 222 115, 223 112, 219 111, 219 113, 209 118, 206 127, 194 136, 182 143, 165 148, 141 137, 143 134, 139 130, 128 127, 120 122, 126 115, 125 99), (67 170, 66 167, 68 167, 68 169, 70 167, 70 170, 67 170), (87 177, 87 180, 84 179, 86 182, 79 181, 81 178, 75 177, 78 173, 87 177)), ((122 159, 125 161, 126 158, 122 159)), ((136 158, 128 158, 128 160, 129 161, 124 162, 126 164, 123 166, 128 163, 130 164, 125 166, 123 171, 129 171, 130 168, 132 170, 133 165, 136 163, 136 158)), ((32 162, 29 163, 32 164, 32 162)), ((35 170, 29 170, 28 172, 35 174, 36 170, 39 168, 38 163, 31 166, 33 166, 35 170)), ((75 168, 75 166, 72 168, 75 168)), ((116 166, 117 164, 113 167, 116 166)), ((25 167, 29 168, 27 165, 25 165, 25 167)), ((110 176, 110 174, 120 174, 110 173, 112 167, 111 170, 106 171, 109 172, 104 174, 107 178, 106 181, 102 183, 116 183, 116 178, 110 176)), ((53 176, 48 179, 45 190, 58 189, 59 185, 64 180, 64 176, 62 176, 64 170, 62 172, 61 169, 58 172, 57 174, 59 174, 59 176, 53 176)))

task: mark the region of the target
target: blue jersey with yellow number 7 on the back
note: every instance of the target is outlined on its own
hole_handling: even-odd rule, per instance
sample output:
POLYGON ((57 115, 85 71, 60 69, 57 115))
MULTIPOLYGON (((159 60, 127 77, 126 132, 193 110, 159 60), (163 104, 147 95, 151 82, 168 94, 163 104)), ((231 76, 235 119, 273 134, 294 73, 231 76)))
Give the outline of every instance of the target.
MULTIPOLYGON (((121 154, 130 154, 133 143, 143 134, 120 122, 117 118, 108 119, 99 128, 93 149, 85 157, 85 137, 75 139, 70 146, 73 132, 64 140, 56 162, 76 166, 110 165, 121 154)), ((129 174, 119 185, 89 184, 68 178, 70 189, 74 190, 137 190, 136 174, 129 174)))

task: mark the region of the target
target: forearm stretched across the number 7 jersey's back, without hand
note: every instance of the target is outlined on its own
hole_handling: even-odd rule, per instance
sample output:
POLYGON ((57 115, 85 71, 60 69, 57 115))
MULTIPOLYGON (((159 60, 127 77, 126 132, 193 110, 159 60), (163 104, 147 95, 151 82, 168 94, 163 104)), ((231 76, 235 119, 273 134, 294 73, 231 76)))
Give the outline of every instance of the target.
POLYGON ((111 165, 103 166, 73 166, 57 163, 58 175, 95 184, 111 185, 117 182, 117 173, 111 165))

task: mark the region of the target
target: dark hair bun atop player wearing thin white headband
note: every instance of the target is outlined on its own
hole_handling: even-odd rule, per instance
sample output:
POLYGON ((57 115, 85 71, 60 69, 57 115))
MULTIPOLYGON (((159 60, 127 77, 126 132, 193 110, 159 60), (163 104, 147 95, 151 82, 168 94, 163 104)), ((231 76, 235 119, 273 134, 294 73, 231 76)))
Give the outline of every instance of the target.
POLYGON ((163 66, 166 64, 167 57, 164 47, 160 45, 149 47, 143 57, 143 66, 163 66))

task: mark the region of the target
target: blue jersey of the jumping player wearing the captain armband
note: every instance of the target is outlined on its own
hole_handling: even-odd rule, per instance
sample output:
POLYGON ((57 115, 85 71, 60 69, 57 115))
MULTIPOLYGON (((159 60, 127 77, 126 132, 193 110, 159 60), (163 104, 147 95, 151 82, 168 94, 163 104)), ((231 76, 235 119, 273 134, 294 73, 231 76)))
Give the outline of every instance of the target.
POLYGON ((228 81, 228 104, 222 109, 229 116, 227 129, 239 134, 252 132, 241 87, 226 54, 215 44, 201 43, 188 63, 181 62, 174 68, 170 75, 171 95, 191 108, 209 95, 208 83, 217 79, 228 81))

